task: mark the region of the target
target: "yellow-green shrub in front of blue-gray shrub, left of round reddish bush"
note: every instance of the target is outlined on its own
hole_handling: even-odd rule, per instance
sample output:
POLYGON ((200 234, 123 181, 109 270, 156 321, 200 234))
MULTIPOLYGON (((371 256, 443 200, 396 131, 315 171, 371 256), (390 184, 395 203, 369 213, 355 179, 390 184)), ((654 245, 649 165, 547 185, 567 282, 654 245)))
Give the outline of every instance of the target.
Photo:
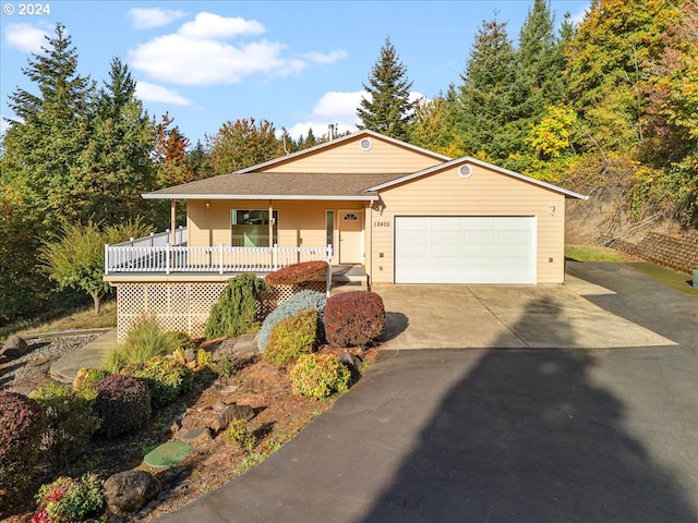
POLYGON ((274 326, 264 351, 264 361, 285 365, 317 346, 317 311, 306 308, 274 326))

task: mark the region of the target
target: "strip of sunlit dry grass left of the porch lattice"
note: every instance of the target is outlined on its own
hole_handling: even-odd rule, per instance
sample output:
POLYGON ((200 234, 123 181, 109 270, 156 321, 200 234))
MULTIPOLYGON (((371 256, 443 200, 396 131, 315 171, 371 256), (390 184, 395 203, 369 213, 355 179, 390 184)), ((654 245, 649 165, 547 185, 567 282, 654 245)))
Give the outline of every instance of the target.
POLYGON ((53 319, 27 319, 0 327, 0 340, 13 335, 37 335, 57 330, 100 329, 117 326, 117 302, 109 300, 101 305, 101 313, 95 314, 92 305, 69 311, 53 319))

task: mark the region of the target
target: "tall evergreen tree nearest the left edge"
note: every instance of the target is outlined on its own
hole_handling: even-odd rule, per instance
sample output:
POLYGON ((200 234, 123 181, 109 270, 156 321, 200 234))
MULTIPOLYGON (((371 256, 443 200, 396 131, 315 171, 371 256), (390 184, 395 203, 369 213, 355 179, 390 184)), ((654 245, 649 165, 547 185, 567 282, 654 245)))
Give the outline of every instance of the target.
POLYGON ((38 94, 17 88, 10 107, 19 117, 3 139, 2 178, 21 194, 31 216, 50 229, 57 218, 80 214, 75 170, 88 135, 94 85, 77 74, 77 53, 61 24, 47 47, 32 54, 24 75, 38 94))

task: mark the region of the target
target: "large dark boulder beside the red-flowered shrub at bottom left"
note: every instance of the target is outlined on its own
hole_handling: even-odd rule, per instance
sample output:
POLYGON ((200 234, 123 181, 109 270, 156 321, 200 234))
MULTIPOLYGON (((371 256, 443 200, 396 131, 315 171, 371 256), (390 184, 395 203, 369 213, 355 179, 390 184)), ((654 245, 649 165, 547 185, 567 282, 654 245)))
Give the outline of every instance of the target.
POLYGON ((109 511, 118 518, 129 515, 153 501, 160 491, 155 477, 145 471, 125 471, 105 482, 109 511))

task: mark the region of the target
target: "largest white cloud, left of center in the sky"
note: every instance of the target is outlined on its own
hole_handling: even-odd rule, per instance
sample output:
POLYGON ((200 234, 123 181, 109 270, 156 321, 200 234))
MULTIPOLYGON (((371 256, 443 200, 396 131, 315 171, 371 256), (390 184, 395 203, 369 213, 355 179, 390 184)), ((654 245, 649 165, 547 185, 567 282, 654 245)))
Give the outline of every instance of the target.
POLYGON ((262 24, 241 17, 201 12, 177 33, 153 38, 129 50, 129 64, 148 77, 180 85, 237 84, 250 75, 298 74, 312 63, 334 63, 345 51, 286 56, 281 42, 260 39, 230 42, 241 35, 264 33, 262 24))

